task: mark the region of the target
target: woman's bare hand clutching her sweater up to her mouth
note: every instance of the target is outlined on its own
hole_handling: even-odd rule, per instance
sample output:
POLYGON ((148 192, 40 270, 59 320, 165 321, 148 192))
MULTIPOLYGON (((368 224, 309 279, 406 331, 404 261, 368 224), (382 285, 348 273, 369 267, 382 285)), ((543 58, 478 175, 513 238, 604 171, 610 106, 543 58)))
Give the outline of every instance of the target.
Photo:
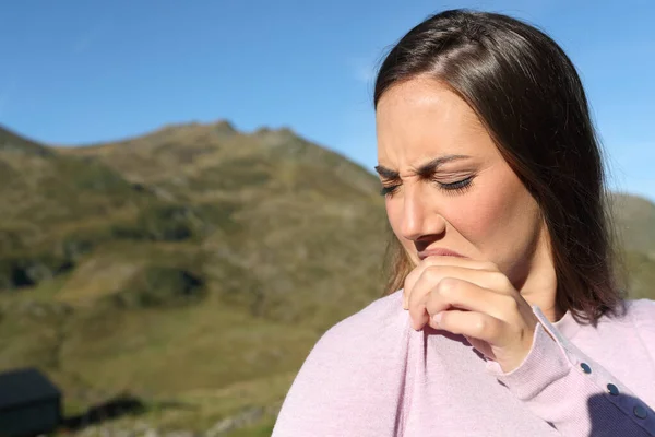
POLYGON ((523 363, 538 322, 498 267, 455 257, 422 260, 405 280, 403 307, 414 329, 462 334, 504 373, 523 363))

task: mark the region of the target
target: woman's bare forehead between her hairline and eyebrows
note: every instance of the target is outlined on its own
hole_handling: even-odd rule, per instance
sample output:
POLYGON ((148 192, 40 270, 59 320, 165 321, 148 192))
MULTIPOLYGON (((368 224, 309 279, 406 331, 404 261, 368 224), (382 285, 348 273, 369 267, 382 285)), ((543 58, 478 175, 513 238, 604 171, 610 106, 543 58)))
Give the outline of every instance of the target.
POLYGON ((408 161, 441 154, 497 152, 468 104, 431 79, 413 79, 389 88, 376 110, 380 160, 408 161))

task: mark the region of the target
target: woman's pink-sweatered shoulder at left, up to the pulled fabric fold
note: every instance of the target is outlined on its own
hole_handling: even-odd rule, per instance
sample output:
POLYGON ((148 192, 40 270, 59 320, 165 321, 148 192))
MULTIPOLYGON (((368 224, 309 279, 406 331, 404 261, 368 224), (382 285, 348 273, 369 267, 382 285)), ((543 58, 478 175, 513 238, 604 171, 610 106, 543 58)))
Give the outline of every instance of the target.
POLYGON ((340 426, 365 433, 381 415, 394 417, 409 329, 402 292, 329 329, 294 379, 277 435, 343 435, 340 426))

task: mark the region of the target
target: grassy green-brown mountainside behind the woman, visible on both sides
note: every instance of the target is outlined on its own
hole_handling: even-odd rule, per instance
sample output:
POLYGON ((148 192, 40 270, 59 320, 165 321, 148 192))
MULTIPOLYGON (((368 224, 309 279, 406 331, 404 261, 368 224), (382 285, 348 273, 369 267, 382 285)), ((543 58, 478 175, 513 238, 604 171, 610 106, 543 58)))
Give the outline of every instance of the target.
MULTIPOLYGON (((145 410, 119 423, 266 435, 319 335, 382 293, 377 178, 289 129, 55 147, 0 128, 0 370, 38 366, 69 417, 129 394, 145 410)), ((655 205, 612 203, 653 297, 655 205)))

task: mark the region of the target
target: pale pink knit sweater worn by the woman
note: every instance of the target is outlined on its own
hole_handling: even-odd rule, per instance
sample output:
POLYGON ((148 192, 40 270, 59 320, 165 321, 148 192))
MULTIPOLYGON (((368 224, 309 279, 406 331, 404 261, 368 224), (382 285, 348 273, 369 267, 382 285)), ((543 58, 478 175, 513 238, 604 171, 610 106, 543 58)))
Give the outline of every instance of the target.
POLYGON ((274 437, 655 436, 655 302, 630 300, 596 329, 571 314, 550 323, 535 306, 532 351, 503 374, 461 335, 414 331, 401 299, 321 338, 274 437))

